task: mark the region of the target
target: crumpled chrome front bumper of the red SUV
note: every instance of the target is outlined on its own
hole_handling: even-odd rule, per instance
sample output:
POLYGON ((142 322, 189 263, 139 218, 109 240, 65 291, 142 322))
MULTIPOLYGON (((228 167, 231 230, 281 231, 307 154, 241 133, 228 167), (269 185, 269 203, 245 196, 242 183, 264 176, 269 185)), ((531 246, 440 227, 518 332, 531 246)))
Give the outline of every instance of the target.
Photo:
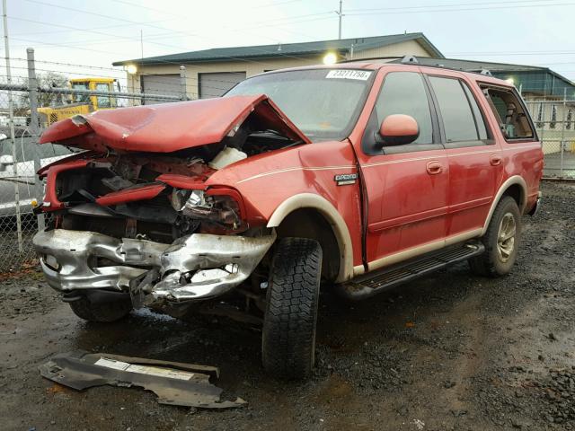
POLYGON ((172 244, 117 239, 102 233, 54 229, 33 243, 49 286, 137 292, 146 303, 205 300, 240 285, 275 241, 193 233, 172 244))

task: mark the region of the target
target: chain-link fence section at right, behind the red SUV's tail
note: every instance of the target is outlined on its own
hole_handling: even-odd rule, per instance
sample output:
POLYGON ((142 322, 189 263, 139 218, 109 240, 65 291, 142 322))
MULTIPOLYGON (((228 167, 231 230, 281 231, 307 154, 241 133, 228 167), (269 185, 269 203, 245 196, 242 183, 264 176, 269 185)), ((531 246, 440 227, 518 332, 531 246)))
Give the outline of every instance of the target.
POLYGON ((543 142, 544 177, 575 180, 575 101, 526 101, 543 142))

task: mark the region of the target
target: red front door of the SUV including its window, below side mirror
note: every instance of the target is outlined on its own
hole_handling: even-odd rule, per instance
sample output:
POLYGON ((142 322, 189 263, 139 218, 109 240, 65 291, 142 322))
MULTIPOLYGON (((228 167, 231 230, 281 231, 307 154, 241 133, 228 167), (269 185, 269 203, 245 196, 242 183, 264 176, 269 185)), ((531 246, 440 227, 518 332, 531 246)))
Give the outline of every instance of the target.
POLYGON ((419 69, 386 68, 358 154, 367 194, 366 255, 369 270, 443 246, 449 164, 441 145, 429 89, 419 69), (417 120, 418 139, 377 145, 382 121, 391 114, 417 120))

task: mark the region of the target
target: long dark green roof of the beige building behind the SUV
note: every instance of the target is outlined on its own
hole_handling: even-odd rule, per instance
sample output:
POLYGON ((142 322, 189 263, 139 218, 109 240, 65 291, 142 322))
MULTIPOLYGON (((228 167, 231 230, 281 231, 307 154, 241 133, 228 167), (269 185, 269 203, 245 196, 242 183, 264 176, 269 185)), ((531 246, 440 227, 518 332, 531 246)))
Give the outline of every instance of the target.
MULTIPOLYGON (((136 58, 112 63, 113 66, 128 64, 157 65, 157 64, 189 64, 208 61, 247 60, 249 58, 263 57, 294 57, 322 54, 325 51, 338 51, 341 54, 349 52, 353 47, 354 52, 369 48, 380 48, 394 45, 408 40, 418 41, 423 48, 435 57, 443 58, 443 54, 434 47, 423 33, 391 34, 387 36, 374 36, 368 38, 354 38, 341 40, 318 40, 315 42, 286 43, 275 45, 257 45, 252 47, 211 48, 200 51, 181 52, 168 56, 136 58)), ((405 53, 409 54, 409 53, 405 53)))

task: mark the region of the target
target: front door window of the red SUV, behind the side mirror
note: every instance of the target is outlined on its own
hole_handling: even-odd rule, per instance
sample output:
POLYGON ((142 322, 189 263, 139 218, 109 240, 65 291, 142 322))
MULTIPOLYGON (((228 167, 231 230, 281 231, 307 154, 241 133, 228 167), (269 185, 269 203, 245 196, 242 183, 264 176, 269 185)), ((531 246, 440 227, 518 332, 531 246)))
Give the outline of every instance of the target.
POLYGON ((416 72, 392 72, 385 76, 384 86, 376 101, 377 124, 388 115, 411 115, 420 127, 413 144, 431 144, 433 128, 428 95, 423 77, 416 72))

